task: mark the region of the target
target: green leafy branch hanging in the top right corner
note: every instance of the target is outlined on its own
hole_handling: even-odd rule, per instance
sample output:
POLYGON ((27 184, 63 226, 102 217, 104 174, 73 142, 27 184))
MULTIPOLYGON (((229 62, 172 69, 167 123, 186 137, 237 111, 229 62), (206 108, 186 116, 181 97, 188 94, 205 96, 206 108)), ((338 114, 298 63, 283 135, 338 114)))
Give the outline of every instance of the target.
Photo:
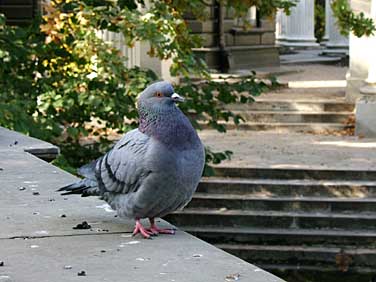
POLYGON ((373 20, 365 17, 363 12, 355 14, 348 0, 334 0, 331 7, 343 35, 348 35, 351 31, 357 37, 370 36, 376 31, 373 20))

